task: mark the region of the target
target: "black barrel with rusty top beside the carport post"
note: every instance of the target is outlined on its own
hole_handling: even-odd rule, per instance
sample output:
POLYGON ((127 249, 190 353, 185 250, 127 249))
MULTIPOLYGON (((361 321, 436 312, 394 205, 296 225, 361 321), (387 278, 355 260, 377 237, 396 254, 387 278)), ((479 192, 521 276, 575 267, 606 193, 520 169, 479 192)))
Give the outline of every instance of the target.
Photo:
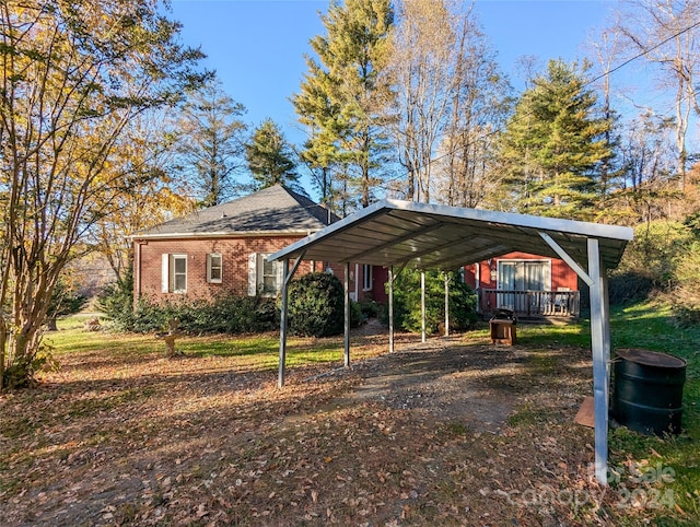
POLYGON ((680 433, 687 362, 634 348, 615 353, 615 419, 643 434, 680 433))

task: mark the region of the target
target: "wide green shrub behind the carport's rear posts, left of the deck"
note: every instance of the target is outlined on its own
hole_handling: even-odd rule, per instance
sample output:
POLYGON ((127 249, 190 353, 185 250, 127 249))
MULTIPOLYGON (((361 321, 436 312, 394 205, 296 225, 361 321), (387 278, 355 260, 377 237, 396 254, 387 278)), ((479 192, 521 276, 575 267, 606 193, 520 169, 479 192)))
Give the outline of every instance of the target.
MULTIPOLYGON (((476 295, 459 271, 450 271, 450 328, 468 329, 478 318, 476 295)), ((408 331, 421 330, 420 271, 405 269, 394 283, 394 324, 408 331)), ((385 311, 384 319, 387 318, 385 311)), ((445 323, 445 278, 425 271, 425 331, 435 333, 445 323)))

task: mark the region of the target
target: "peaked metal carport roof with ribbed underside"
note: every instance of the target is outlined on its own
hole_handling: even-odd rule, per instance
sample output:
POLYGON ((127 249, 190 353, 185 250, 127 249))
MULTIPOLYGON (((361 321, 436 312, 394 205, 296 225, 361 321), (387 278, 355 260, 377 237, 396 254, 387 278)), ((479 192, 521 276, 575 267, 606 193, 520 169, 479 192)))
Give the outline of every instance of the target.
POLYGON ((269 259, 301 256, 337 264, 448 270, 511 251, 560 257, 553 248, 559 245, 585 269, 588 238, 598 239, 605 267, 614 269, 632 239, 632 230, 387 199, 289 245, 269 259))

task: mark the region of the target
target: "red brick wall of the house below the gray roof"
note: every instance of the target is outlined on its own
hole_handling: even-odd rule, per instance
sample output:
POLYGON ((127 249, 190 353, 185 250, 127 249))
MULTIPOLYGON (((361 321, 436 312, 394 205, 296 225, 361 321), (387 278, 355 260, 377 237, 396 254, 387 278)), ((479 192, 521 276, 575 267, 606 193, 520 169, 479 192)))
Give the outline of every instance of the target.
MULTIPOLYGON (((153 301, 211 298, 220 293, 248 294, 248 255, 275 253, 301 239, 302 236, 267 236, 241 238, 148 239, 137 241, 135 250, 135 295, 153 301), (222 283, 207 282, 207 254, 222 255, 222 283), (162 255, 187 255, 187 292, 161 292, 162 255), (140 269, 140 280, 138 278, 140 269)), ((323 262, 315 262, 323 270, 323 262)), ((311 261, 302 261, 296 274, 312 271, 311 261)))

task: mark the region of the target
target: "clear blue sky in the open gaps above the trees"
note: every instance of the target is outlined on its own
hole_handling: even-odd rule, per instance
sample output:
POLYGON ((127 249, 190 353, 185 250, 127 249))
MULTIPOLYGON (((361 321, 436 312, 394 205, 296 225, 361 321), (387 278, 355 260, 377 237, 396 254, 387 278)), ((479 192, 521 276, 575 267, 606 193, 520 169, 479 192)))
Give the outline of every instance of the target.
MULTIPOLYGON (((514 77, 515 62, 524 55, 542 65, 550 58, 583 57, 588 35, 604 26, 615 2, 478 0, 476 7, 501 68, 514 77)), ((247 108, 246 122, 255 127, 270 117, 289 141, 301 142, 289 99, 306 71, 308 40, 325 34, 318 13, 328 1, 173 0, 172 8, 172 17, 184 26, 183 42, 207 54, 206 66, 247 108)))

